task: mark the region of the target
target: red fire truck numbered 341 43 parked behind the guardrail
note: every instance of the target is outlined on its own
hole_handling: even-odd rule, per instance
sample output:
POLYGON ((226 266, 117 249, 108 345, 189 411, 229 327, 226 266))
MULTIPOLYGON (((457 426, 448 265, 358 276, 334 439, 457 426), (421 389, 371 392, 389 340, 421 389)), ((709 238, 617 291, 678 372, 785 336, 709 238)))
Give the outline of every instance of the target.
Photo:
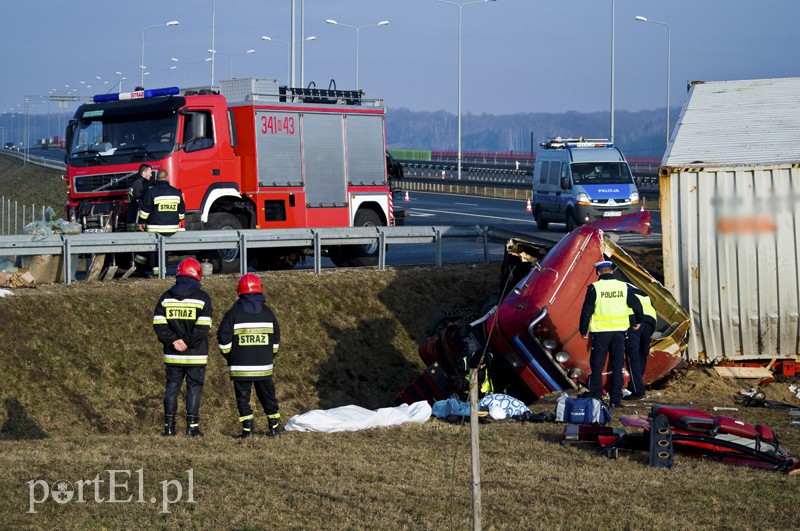
MULTIPOLYGON (((98 95, 67 127, 67 215, 84 232, 125 230, 130 181, 146 162, 166 169, 182 191, 186 230, 393 225, 385 116, 383 102, 362 91, 254 78, 223 80, 219 91, 98 95)), ((258 269, 280 269, 308 252, 256 249, 248 256, 258 269)), ((378 258, 376 245, 324 252, 336 265, 378 258)), ((217 272, 239 269, 236 249, 208 258, 217 272)))

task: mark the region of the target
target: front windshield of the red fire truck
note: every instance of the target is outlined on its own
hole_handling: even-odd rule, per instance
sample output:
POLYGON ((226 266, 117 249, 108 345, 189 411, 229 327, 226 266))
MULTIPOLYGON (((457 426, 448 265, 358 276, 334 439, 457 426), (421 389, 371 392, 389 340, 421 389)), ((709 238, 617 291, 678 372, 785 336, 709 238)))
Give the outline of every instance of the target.
POLYGON ((125 164, 163 158, 175 149, 177 114, 84 113, 72 122, 67 160, 71 166, 125 164), (87 116, 88 115, 88 116, 87 116))

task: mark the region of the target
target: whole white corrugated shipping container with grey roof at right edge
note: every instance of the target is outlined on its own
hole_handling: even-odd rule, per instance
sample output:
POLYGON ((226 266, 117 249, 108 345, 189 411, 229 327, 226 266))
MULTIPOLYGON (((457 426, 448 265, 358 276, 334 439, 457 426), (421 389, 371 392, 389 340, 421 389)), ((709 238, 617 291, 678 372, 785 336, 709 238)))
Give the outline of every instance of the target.
POLYGON ((798 103, 800 78, 692 86, 660 177, 664 281, 691 316, 689 359, 800 357, 798 103))

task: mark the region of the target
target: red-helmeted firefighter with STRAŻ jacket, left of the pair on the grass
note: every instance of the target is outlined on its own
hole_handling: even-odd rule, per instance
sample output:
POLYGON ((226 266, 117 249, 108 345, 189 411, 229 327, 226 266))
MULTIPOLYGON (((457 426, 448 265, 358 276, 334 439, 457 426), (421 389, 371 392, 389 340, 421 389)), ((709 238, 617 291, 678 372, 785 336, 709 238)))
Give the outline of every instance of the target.
POLYGON ((175 435, 178 393, 186 379, 186 435, 202 437, 200 398, 208 364, 211 330, 211 297, 200 287, 203 270, 194 258, 178 264, 175 285, 167 290, 153 311, 153 329, 164 345, 166 391, 164 435, 175 435))

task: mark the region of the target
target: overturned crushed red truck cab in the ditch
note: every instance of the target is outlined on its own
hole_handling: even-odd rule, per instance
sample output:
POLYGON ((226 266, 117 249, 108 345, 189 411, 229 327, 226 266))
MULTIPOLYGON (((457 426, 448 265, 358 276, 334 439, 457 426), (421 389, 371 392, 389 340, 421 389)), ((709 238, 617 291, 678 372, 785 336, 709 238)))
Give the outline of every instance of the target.
MULTIPOLYGON (((580 310, 587 287, 597 280, 594 264, 606 258, 614 262, 621 280, 650 296, 658 313, 645 384, 669 375, 683 363, 689 316, 612 241, 605 232, 611 230, 648 234, 650 214, 586 224, 550 249, 510 240, 499 295, 478 312, 451 310, 434 319, 419 348, 428 367, 398 395, 398 402, 435 401, 463 391, 470 363, 486 365, 495 392, 526 403, 585 386, 590 345, 578 332, 580 310)), ((603 381, 610 385, 608 367, 603 381)))

